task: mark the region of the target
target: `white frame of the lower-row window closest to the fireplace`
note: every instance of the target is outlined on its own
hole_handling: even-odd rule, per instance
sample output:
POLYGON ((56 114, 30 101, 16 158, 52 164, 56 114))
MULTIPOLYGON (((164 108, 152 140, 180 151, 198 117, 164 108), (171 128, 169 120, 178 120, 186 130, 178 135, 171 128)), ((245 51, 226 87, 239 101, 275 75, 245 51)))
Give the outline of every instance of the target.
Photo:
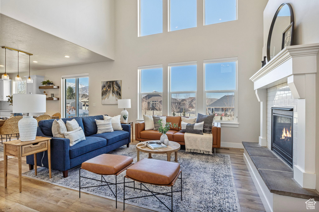
POLYGON ((226 120, 215 120, 216 122, 220 122, 220 123, 238 123, 238 104, 237 104, 237 100, 238 100, 238 58, 237 57, 233 57, 233 58, 219 58, 219 59, 209 59, 209 60, 204 60, 204 113, 206 113, 206 94, 207 93, 234 93, 235 98, 234 98, 234 120, 233 121, 226 121, 226 120), (206 82, 206 70, 205 70, 205 64, 209 64, 209 63, 226 63, 226 62, 236 62, 236 79, 235 79, 235 90, 207 90, 206 91, 206 86, 205 86, 205 82, 206 82))

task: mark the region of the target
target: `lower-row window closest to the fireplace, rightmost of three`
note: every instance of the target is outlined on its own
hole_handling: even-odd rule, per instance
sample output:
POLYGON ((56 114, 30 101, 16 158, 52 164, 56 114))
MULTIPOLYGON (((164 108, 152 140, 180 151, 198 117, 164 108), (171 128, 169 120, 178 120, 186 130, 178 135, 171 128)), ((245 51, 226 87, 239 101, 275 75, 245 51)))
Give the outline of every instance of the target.
POLYGON ((237 121, 237 58, 204 60, 206 114, 218 122, 237 121))

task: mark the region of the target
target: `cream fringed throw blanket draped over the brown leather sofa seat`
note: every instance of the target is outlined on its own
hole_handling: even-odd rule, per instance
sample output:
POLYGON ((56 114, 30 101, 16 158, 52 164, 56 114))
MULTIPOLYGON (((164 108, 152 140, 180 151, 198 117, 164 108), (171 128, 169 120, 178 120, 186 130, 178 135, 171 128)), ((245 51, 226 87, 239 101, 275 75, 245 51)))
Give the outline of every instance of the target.
POLYGON ((204 135, 195 133, 185 133, 186 152, 197 152, 204 154, 213 154, 211 149, 213 145, 213 134, 204 133, 204 135))

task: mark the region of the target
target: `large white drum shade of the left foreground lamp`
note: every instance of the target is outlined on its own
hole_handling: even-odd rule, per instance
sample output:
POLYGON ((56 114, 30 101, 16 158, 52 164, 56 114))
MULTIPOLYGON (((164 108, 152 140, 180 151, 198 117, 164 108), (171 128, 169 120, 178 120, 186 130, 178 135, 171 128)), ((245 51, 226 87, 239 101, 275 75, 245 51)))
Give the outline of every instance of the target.
POLYGON ((46 95, 13 94, 13 113, 45 113, 46 95))

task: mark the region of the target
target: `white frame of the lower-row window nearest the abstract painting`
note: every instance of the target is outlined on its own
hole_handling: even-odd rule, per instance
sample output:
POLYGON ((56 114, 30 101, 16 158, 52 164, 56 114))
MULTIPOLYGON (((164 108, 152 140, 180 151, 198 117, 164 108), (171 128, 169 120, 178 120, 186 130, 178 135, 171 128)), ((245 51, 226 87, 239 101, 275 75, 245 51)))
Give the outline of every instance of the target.
MULTIPOLYGON (((137 67, 137 71, 138 71, 138 111, 137 111, 137 120, 144 120, 143 115, 142 115, 142 95, 147 95, 147 94, 154 94, 152 92, 143 92, 142 93, 142 70, 145 69, 155 69, 155 68, 161 68, 162 69, 162 74, 163 74, 163 65, 159 64, 159 65, 146 65, 146 66, 139 66, 137 67)), ((163 80, 162 80, 162 84, 163 84, 163 80)), ((157 94, 161 94, 162 95, 162 113, 163 113, 163 90, 162 92, 158 92, 157 94)))

